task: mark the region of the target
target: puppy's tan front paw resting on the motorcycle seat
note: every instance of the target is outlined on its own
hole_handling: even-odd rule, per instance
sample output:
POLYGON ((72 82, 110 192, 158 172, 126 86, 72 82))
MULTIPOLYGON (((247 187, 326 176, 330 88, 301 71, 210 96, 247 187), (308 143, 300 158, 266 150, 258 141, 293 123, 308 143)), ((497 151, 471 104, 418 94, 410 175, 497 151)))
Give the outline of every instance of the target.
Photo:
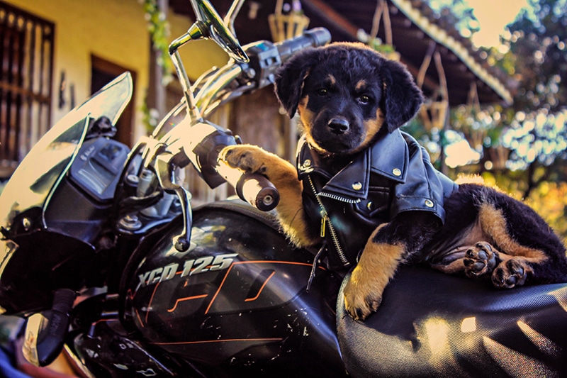
POLYGON ((381 304, 385 285, 380 283, 379 273, 374 274, 369 275, 359 265, 344 287, 344 307, 354 320, 364 321, 381 304))

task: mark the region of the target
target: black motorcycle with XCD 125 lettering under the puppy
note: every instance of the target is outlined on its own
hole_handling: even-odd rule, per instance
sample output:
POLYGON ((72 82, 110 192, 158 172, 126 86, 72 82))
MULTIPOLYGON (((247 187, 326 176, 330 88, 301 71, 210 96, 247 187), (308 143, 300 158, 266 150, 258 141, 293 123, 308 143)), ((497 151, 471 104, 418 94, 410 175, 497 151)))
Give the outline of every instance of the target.
POLYGON ((64 350, 84 377, 565 373, 566 284, 494 291, 401 267, 377 313, 349 318, 344 274, 288 243, 270 212, 277 190, 219 163, 240 141, 207 121, 330 34, 242 48, 230 27, 241 1, 224 21, 191 4, 195 23, 169 46, 184 98, 152 135, 131 150, 111 139, 125 73, 53 126, 0 196, 0 309, 26 318, 28 361, 64 350), (201 38, 231 59, 191 84, 178 51, 201 38), (189 165, 240 199, 192 209, 189 165))

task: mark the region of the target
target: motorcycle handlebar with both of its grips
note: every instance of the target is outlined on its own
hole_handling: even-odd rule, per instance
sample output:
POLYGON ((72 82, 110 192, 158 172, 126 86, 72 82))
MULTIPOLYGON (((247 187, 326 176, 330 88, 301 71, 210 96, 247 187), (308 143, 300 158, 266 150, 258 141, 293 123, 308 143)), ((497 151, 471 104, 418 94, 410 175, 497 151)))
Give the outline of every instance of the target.
MULTIPOLYGON (((197 102, 203 109, 203 114, 207 113, 208 105, 212 102, 215 102, 215 106, 223 102, 222 100, 213 100, 218 99, 218 94, 224 93, 223 90, 230 83, 234 82, 242 72, 246 72, 247 78, 255 82, 255 85, 249 85, 250 83, 248 83, 243 86, 242 88, 247 89, 245 91, 237 91, 237 96, 246 91, 260 89, 273 84, 276 71, 294 52, 308 47, 325 45, 330 42, 330 39, 331 35, 327 29, 314 28, 305 31, 303 35, 280 43, 274 44, 268 41, 260 41, 249 45, 246 48, 246 53, 250 58, 248 65, 230 63, 223 69, 218 70, 213 77, 210 77, 203 84, 201 90, 198 91, 198 94, 196 94, 197 102)), ((232 90, 234 91, 234 89, 232 90)), ((228 98, 230 96, 225 96, 225 99, 228 98)), ((213 108, 214 106, 211 106, 211 109, 213 108)), ((194 148, 190 148, 192 153, 187 155, 187 157, 193 162, 193 166, 211 188, 217 187, 223 182, 228 182, 232 187, 235 187, 240 199, 249 202, 257 209, 270 211, 276 207, 279 202, 279 193, 266 177, 258 174, 243 175, 239 169, 230 168, 225 164, 218 164, 218 151, 222 150, 226 145, 236 143, 229 130, 222 130, 220 126, 203 121, 191 126, 191 128, 192 130, 199 128, 202 132, 198 133, 198 135, 207 135, 194 148)), ((183 135, 177 134, 183 131, 182 129, 179 130, 174 132, 175 138, 168 138, 184 140, 183 135)), ((168 138, 165 138, 166 143, 169 140, 168 138)), ((179 151, 181 152, 181 149, 179 151)))

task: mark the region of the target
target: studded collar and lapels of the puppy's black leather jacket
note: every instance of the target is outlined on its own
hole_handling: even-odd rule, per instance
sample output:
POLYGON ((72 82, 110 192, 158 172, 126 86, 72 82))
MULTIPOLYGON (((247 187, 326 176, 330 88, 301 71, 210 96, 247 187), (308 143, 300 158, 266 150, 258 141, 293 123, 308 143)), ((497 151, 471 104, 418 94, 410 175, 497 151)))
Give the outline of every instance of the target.
POLYGON ((409 150, 403 133, 396 129, 377 140, 354 157, 352 162, 331 177, 325 170, 320 155, 310 148, 305 138, 298 144, 297 169, 299 179, 318 173, 328 179, 321 193, 346 199, 366 199, 370 186, 370 172, 393 182, 403 183, 408 174, 409 150))

